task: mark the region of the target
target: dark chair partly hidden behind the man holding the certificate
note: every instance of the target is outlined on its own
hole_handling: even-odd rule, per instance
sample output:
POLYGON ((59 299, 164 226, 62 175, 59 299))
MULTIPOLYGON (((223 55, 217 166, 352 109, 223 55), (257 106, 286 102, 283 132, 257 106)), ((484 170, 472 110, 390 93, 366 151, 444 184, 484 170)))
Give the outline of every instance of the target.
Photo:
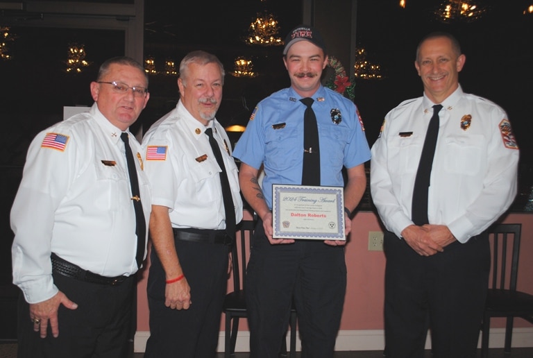
MULTIPOLYGON (((247 253, 250 252, 250 240, 255 228, 255 220, 243 220, 237 226, 237 239, 232 247, 231 259, 233 270, 233 291, 224 299, 223 312, 226 314, 226 341, 224 358, 229 358, 235 353, 237 332, 239 330, 239 318, 246 318, 246 300, 244 298, 244 276, 246 275, 247 253)), ((296 357, 296 309, 291 309, 289 319, 291 327, 290 355, 296 357)), ((280 342, 282 353, 287 352, 285 337, 280 342)))

